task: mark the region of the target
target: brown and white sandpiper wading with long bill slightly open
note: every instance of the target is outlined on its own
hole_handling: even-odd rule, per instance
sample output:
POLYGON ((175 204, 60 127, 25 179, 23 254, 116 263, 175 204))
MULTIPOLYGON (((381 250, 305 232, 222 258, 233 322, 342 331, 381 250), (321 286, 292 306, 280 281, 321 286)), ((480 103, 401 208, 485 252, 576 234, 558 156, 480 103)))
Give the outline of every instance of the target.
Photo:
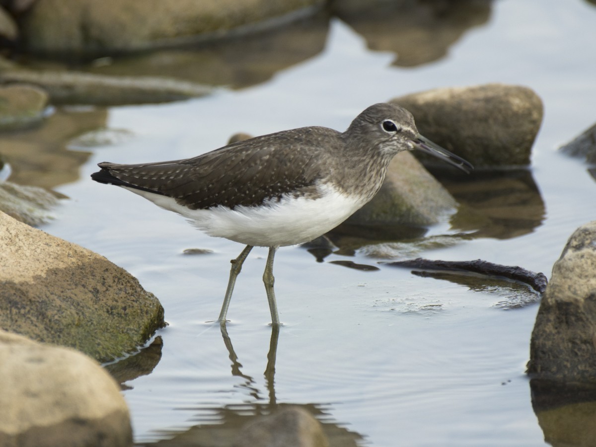
POLYGON ((395 154, 418 149, 468 172, 470 163, 421 136, 404 108, 374 104, 345 132, 306 127, 256 136, 170 162, 99 163, 95 181, 117 185, 187 218, 210 236, 246 244, 233 259, 218 321, 253 246, 269 247, 263 282, 279 324, 273 260, 278 247, 330 231, 377 193, 395 154))

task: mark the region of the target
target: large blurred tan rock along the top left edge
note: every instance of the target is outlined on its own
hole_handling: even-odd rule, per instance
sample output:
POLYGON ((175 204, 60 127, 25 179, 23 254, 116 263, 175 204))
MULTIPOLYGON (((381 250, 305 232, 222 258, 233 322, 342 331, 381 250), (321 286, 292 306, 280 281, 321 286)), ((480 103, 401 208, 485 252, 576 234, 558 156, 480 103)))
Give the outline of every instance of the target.
POLYGON ((139 51, 242 35, 312 14, 322 0, 38 0, 23 17, 30 51, 139 51), (311 8, 309 8, 311 7, 311 8))

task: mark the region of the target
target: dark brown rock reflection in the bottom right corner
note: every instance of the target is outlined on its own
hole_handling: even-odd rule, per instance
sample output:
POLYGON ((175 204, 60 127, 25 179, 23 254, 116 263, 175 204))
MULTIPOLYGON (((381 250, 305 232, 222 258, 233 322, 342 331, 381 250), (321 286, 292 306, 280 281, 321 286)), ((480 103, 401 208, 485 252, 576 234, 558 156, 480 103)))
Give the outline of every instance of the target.
POLYGON ((530 388, 532 408, 545 442, 553 447, 596 445, 594 384, 532 379, 530 388))

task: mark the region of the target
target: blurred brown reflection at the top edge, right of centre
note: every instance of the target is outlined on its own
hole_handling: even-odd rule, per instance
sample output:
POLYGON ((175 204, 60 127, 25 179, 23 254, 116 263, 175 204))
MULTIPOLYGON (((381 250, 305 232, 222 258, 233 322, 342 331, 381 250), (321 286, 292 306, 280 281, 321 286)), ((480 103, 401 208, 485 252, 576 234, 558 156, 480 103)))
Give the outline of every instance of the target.
POLYGON ((397 66, 412 67, 445 56, 471 27, 488 21, 490 2, 464 0, 334 0, 332 11, 368 48, 391 51, 397 66))

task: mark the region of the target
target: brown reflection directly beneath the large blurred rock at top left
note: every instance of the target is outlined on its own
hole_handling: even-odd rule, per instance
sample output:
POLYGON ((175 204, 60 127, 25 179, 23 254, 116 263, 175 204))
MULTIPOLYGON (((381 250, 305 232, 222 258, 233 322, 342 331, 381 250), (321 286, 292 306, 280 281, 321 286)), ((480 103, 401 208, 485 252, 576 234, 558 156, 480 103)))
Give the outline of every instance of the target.
POLYGON ((201 85, 241 88, 265 82, 319 54, 325 46, 328 17, 316 14, 266 33, 201 45, 114 58, 85 70, 111 76, 159 76, 201 85))

